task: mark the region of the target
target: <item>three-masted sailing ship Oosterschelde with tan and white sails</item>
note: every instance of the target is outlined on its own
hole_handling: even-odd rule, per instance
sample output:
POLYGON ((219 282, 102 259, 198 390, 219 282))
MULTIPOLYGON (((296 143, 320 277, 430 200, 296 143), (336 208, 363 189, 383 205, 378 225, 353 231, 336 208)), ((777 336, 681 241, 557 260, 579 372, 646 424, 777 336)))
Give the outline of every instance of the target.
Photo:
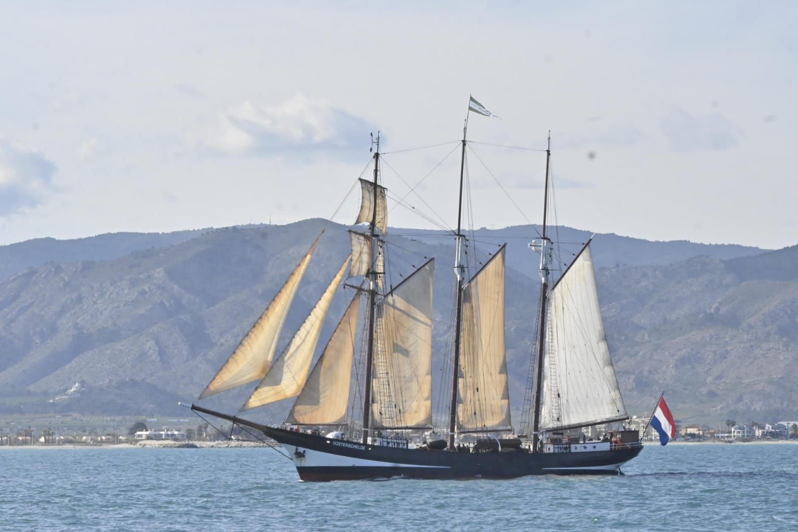
MULTIPOLYGON (((490 116, 471 98, 469 112, 490 116)), ((370 179, 358 178, 361 207, 349 231, 351 253, 278 351, 283 325, 321 235, 231 357, 192 404, 199 415, 227 420, 282 447, 306 481, 345 479, 501 479, 524 475, 621 473, 642 450, 610 359, 596 290, 591 242, 567 266, 555 263, 548 225, 551 136, 547 144, 543 225, 530 246, 539 254, 537 319, 519 424, 511 419, 505 349, 505 255, 500 246, 469 264, 463 226, 468 113, 460 149, 451 349, 433 353, 436 259, 414 267, 396 286, 386 282, 391 239, 388 195, 381 183, 379 134, 370 179), (335 294, 354 295, 316 356, 335 294), (448 367, 437 382, 433 357, 448 367), (239 412, 203 400, 252 386, 239 412), (282 423, 243 412, 290 401, 282 423), (601 435, 588 437, 591 428, 601 435)), ((323 232, 323 231, 322 231, 323 232)), ((445 326, 445 325, 444 325, 445 326)), ((439 349, 440 351, 440 349, 439 349)), ((268 407, 267 407, 268 408, 268 407)))

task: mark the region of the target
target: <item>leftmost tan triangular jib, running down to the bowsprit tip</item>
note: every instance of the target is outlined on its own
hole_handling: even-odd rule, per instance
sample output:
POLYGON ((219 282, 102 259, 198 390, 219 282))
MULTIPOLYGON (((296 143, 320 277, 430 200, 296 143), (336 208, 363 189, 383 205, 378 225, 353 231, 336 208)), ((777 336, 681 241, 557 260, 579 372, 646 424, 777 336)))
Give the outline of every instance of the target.
POLYGON ((318 246, 319 238, 321 235, 313 242, 313 246, 310 246, 310 250, 299 261, 294 272, 290 274, 267 309, 263 311, 258 321, 255 321, 255 325, 252 325, 247 336, 199 395, 199 399, 263 379, 263 376, 269 371, 271 361, 275 357, 282 324, 286 321, 288 309, 290 309, 291 302, 294 301, 299 282, 305 275, 310 258, 313 257, 318 246))

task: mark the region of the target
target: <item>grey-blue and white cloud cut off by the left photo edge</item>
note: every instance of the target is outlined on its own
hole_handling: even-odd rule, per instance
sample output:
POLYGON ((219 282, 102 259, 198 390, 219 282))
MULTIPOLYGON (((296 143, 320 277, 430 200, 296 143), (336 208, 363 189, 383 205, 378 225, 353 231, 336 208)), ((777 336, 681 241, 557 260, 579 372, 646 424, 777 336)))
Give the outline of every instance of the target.
POLYGON ((38 205, 55 169, 41 153, 0 139, 0 216, 38 205))

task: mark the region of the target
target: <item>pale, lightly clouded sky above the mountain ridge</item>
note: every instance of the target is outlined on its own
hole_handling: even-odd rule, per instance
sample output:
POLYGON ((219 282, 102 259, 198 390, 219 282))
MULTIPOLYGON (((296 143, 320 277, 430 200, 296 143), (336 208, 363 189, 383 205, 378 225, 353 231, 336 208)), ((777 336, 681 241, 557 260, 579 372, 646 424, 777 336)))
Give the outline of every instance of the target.
POLYGON ((454 227, 472 94, 501 118, 469 118, 468 225, 539 223, 545 153, 488 144, 551 130, 557 223, 792 246, 796 26, 776 1, 3 2, 0 244, 352 223, 378 130, 390 225, 454 227))

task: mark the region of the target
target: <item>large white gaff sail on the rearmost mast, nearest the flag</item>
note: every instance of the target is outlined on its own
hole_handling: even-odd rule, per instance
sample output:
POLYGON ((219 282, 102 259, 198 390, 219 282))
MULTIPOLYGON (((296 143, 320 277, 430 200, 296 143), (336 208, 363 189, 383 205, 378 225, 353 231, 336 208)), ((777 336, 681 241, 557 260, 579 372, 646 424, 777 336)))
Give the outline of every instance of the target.
POLYGON ((627 419, 610 360, 588 242, 548 294, 541 426, 627 419))

